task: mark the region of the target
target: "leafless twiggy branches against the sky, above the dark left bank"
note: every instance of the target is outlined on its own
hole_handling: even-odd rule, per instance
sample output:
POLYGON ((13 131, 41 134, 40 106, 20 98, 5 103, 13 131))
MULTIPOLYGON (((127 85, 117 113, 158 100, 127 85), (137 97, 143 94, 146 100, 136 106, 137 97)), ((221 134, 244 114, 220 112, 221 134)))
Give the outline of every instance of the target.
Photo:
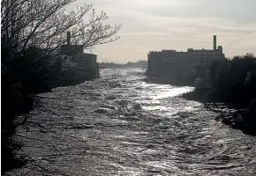
POLYGON ((103 11, 96 15, 92 5, 75 10, 66 8, 75 0, 3 0, 1 2, 2 51, 25 52, 26 48, 59 48, 66 41, 67 30, 72 40, 83 48, 93 48, 117 40, 121 25, 109 26, 103 11), (87 18, 87 19, 86 19, 87 18))

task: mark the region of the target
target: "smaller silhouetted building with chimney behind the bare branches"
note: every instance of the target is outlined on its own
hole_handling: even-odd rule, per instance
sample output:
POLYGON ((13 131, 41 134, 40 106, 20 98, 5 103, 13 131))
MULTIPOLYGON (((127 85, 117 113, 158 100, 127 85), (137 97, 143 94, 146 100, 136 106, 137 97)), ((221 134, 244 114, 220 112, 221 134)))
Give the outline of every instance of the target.
MULTIPOLYGON (((70 55, 72 59, 66 64, 72 64, 72 68, 75 70, 83 71, 88 77, 99 77, 99 68, 97 63, 97 55, 84 53, 82 45, 72 45, 71 32, 67 32, 67 44, 61 46, 62 55, 70 55)), ((85 77, 87 77, 85 76, 85 77)))

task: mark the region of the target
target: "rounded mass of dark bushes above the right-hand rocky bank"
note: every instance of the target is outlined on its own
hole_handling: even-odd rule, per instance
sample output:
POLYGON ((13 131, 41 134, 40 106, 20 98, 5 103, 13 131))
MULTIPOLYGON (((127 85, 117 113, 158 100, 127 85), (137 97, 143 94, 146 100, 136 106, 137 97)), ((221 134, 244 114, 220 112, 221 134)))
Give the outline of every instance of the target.
POLYGON ((196 92, 209 93, 208 101, 250 106, 256 97, 256 59, 252 55, 232 60, 215 60, 196 86, 196 92))

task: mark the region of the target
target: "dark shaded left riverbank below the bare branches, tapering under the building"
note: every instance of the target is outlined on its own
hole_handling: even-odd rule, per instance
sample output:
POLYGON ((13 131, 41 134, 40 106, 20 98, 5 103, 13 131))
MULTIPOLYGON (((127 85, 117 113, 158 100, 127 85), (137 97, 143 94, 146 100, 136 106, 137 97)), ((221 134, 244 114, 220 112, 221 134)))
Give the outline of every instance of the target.
MULTIPOLYGON (((2 67, 2 170, 8 172, 12 169, 26 165, 26 158, 17 155, 23 143, 15 140, 17 128, 26 123, 26 115, 34 109, 34 96, 42 92, 51 92, 53 88, 80 84, 96 78, 92 71, 87 73, 83 70, 70 70, 62 72, 62 75, 49 77, 41 80, 39 77, 34 81, 34 75, 22 77, 24 70, 17 72, 2 67)), ((27 74, 28 75, 28 74, 27 74)), ((99 75, 99 74, 98 74, 99 75)))

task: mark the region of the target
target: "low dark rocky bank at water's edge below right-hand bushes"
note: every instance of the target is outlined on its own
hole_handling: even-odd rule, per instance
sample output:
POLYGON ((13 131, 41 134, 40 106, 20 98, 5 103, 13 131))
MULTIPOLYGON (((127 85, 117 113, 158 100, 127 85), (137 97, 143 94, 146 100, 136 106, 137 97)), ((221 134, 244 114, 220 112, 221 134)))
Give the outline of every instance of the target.
POLYGON ((182 95, 184 99, 196 100, 204 103, 209 109, 219 109, 216 121, 222 121, 230 128, 242 130, 244 134, 256 136, 256 99, 252 100, 251 106, 239 103, 219 103, 214 92, 209 90, 195 90, 182 95), (222 111, 222 105, 229 106, 232 111, 222 111), (214 108, 213 108, 214 107, 214 108))

